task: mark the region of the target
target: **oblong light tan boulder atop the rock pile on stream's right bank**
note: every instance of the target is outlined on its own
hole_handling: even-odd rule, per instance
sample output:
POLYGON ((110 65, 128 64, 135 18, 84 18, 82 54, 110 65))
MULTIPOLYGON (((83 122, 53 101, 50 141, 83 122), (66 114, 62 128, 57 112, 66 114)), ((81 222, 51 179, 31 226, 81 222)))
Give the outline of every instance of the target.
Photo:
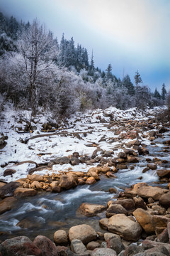
POLYGON ((137 194, 142 198, 153 198, 157 201, 164 194, 164 190, 158 187, 142 186, 137 190, 137 194))

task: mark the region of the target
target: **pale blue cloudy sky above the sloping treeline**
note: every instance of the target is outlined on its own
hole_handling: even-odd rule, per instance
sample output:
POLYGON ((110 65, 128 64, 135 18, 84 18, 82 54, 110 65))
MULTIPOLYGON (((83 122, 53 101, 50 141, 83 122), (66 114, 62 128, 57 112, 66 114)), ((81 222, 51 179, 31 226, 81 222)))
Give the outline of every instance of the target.
POLYGON ((101 70, 118 78, 137 70, 144 85, 170 90, 170 0, 0 0, 0 10, 19 21, 38 18, 58 41, 87 48, 101 70))

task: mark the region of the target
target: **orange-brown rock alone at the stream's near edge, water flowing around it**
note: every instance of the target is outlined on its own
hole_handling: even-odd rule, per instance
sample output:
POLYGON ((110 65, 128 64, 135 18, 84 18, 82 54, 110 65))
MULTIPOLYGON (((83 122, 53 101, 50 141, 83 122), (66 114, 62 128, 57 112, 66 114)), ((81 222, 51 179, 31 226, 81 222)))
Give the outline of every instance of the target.
POLYGON ((106 210, 106 206, 92 204, 92 203, 81 203, 79 210, 85 216, 92 217, 92 216, 96 216, 97 213, 101 213, 103 210, 106 210))

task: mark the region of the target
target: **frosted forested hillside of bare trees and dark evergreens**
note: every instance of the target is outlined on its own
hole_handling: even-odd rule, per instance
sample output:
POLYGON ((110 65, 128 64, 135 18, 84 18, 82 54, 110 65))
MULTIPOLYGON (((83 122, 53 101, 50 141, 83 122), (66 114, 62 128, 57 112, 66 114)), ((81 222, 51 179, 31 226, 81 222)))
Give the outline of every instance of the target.
POLYGON ((104 71, 96 68, 93 53, 89 57, 86 48, 64 34, 59 43, 37 20, 23 23, 0 14, 0 23, 1 110, 6 100, 16 109, 31 109, 33 116, 38 107, 50 110, 55 118, 109 106, 164 105, 165 85, 162 94, 157 89, 152 94, 138 70, 134 85, 128 74, 116 78, 111 63, 104 71))

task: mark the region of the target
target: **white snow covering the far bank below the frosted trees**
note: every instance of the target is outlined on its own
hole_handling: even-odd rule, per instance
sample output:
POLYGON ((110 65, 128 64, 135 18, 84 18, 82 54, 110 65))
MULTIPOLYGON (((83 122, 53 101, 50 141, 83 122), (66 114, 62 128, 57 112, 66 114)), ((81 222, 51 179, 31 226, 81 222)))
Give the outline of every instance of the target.
MULTIPOLYGON (((35 164, 16 166, 16 162, 31 160, 37 164, 47 164, 58 156, 69 156, 75 151, 79 152, 82 156, 85 154, 91 156, 96 147, 87 145, 98 143, 103 136, 106 141, 100 142, 99 146, 103 150, 111 150, 118 145, 118 142, 108 143, 109 138, 114 138, 115 135, 107 129, 106 125, 104 125, 105 123, 108 124, 112 119, 115 121, 126 119, 144 120, 152 117, 160 109, 160 107, 157 107, 144 112, 136 108, 123 111, 115 107, 109 107, 106 110, 78 112, 70 119, 67 119, 67 127, 63 124, 63 127, 57 130, 56 134, 30 139, 35 135, 45 134, 40 132, 42 124, 52 119, 51 114, 39 114, 33 122, 31 121, 30 111, 17 112, 8 108, 5 112, 1 113, 1 134, 8 136, 8 139, 4 149, 0 150, 0 179, 9 182, 16 181, 18 178, 26 178, 28 171, 35 168, 35 164), (18 133, 18 131, 24 130, 28 121, 35 127, 35 130, 28 133, 18 133), (77 137, 77 133, 79 133, 79 137, 77 137), (22 143, 26 139, 30 139, 28 143, 22 143), (4 177, 4 170, 6 169, 14 169, 16 173, 13 176, 4 177)), ((128 140, 126 139, 124 142, 128 142, 128 140)), ((145 144, 149 144, 149 142, 145 140, 145 144)), ((118 149, 115 154, 118 154, 120 151, 122 149, 118 149)), ((86 166, 86 164, 79 164, 78 166, 71 166, 70 164, 54 165, 51 172, 57 173, 58 171, 67 171, 68 169, 88 171, 89 168, 90 166, 86 166)), ((36 172, 36 174, 46 174, 47 172, 50 171, 45 168, 43 171, 36 172)))

